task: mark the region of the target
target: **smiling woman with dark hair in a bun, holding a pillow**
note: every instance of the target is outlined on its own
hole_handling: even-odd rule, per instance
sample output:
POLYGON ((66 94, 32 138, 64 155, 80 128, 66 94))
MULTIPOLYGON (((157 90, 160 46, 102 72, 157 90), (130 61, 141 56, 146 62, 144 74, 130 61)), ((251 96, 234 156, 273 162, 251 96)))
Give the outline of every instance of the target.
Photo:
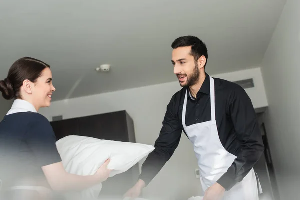
POLYGON ((0 81, 5 99, 13 105, 0 122, 0 179, 3 188, 27 188, 39 193, 82 190, 109 177, 107 160, 95 175, 67 173, 56 148, 56 137, 49 121, 38 114, 51 104, 50 66, 40 60, 23 57, 11 66, 7 78, 0 81), (41 188, 41 189, 40 189, 41 188))

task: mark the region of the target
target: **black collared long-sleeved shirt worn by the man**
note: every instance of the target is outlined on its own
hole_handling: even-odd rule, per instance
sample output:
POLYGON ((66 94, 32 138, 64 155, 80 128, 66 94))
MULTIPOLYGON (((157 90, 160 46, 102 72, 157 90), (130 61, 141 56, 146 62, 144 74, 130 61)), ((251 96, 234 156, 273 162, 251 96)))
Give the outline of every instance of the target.
MULTIPOLYGON (((237 156, 228 171, 217 181, 229 190, 251 170, 263 153, 264 145, 254 107, 245 90, 235 83, 219 78, 214 78, 214 85, 219 138, 224 148, 237 156)), ((143 163, 139 176, 146 185, 171 158, 179 144, 182 131, 185 133, 182 126, 182 108, 187 89, 188 87, 183 87, 176 92, 167 105, 161 131, 155 141, 155 150, 143 163)), ((210 81, 206 73, 197 98, 193 98, 188 91, 186 126, 210 121, 210 109, 210 81)))

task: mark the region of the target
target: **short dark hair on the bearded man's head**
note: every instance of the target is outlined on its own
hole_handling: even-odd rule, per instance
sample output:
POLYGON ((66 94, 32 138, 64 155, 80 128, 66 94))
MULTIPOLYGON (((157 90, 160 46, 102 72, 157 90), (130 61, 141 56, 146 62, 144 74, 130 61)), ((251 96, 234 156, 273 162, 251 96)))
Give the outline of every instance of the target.
POLYGON ((194 57, 195 62, 203 55, 206 58, 206 63, 204 68, 207 64, 208 53, 205 43, 195 36, 182 36, 175 39, 172 43, 172 48, 176 49, 178 47, 185 47, 191 46, 190 55, 194 57))

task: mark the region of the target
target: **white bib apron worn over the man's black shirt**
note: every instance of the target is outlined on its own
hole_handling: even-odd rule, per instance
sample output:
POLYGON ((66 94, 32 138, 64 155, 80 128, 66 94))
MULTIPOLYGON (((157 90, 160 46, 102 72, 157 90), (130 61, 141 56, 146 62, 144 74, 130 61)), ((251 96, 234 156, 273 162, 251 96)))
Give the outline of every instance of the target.
MULTIPOLYGON (((200 181, 203 193, 213 185, 231 166, 236 156, 229 153, 222 145, 215 120, 215 102, 214 102, 214 79, 210 78, 210 103, 211 103, 211 121, 185 125, 185 113, 187 103, 187 92, 185 93, 182 124, 183 128, 193 143, 194 151, 198 160, 200 171, 200 181)), ((243 178, 243 180, 234 185, 229 191, 225 191, 223 200, 258 200, 258 187, 261 190, 259 180, 256 179, 253 168, 243 178)), ((261 193, 261 192, 259 192, 261 193)))

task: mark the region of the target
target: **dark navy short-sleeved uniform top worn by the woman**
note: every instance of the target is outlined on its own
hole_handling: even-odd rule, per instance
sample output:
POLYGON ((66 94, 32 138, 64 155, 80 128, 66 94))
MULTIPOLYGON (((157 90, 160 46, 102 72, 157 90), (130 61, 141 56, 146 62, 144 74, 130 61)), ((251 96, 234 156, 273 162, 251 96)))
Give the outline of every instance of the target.
POLYGON ((0 122, 0 179, 4 187, 20 182, 50 189, 41 167, 60 161, 53 129, 41 114, 19 112, 0 122))

